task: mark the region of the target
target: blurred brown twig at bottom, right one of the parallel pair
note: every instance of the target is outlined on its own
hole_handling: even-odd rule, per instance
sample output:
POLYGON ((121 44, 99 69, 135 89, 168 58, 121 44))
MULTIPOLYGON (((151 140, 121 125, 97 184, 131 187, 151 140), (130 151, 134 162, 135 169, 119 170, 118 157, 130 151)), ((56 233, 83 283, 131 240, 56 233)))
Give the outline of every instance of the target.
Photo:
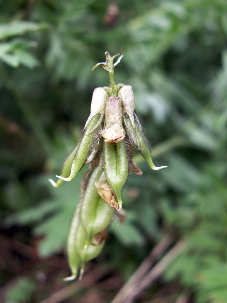
MULTIPOLYGON (((173 248, 166 253, 166 255, 146 274, 146 276, 134 287, 130 293, 127 295, 127 300, 125 303, 133 302, 133 299, 137 297, 141 291, 146 289, 154 280, 156 280, 163 271, 176 259, 176 257, 183 251, 186 246, 186 240, 179 240, 173 248)), ((123 302, 123 301, 118 301, 123 302)), ((114 303, 117 303, 114 302, 114 303)))

